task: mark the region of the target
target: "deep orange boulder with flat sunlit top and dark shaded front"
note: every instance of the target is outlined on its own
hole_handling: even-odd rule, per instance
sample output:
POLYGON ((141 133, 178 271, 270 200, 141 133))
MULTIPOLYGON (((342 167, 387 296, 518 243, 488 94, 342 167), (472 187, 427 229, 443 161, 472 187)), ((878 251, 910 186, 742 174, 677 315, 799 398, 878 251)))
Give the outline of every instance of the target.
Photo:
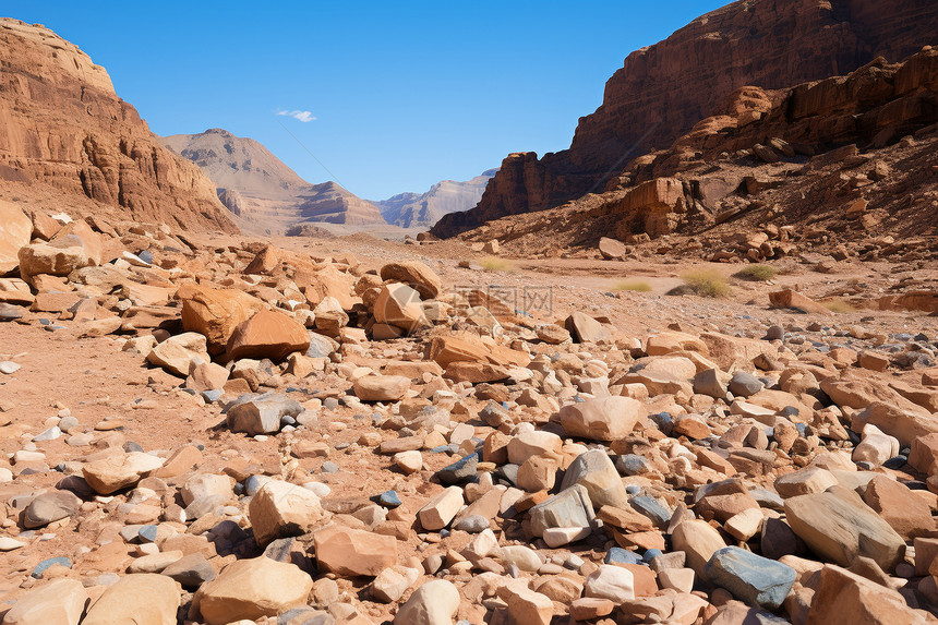
POLYGON ((227 357, 280 361, 309 347, 310 334, 302 324, 284 313, 265 310, 234 327, 228 339, 227 357))

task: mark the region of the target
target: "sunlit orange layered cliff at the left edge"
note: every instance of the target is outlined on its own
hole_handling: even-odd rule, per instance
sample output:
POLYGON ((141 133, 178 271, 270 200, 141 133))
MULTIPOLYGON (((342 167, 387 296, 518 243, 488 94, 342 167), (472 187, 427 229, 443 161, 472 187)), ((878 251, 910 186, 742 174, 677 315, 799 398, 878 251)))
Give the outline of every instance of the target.
POLYGON ((7 194, 98 217, 237 231, 212 181, 163 147, 76 46, 44 26, 0 19, 0 58, 7 194))

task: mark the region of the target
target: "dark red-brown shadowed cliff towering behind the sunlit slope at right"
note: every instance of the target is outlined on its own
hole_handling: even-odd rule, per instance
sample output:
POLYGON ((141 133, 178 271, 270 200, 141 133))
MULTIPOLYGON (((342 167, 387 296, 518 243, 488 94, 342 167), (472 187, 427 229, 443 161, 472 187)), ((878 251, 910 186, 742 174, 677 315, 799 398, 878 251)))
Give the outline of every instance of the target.
POLYGON ((503 217, 602 191, 628 160, 665 147, 745 85, 777 89, 901 60, 938 41, 929 0, 741 0, 628 56, 570 148, 509 155, 479 205, 444 217, 450 237, 503 217))

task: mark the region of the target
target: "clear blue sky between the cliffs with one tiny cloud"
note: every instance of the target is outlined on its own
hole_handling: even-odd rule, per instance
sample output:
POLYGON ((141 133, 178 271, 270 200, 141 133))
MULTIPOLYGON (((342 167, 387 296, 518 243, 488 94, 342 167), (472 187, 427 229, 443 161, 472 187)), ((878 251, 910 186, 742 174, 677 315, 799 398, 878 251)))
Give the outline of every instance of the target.
POLYGON ((568 147, 628 52, 724 3, 4 0, 0 12, 77 44, 157 134, 224 128, 311 182, 333 178, 281 122, 342 185, 382 200, 568 147))

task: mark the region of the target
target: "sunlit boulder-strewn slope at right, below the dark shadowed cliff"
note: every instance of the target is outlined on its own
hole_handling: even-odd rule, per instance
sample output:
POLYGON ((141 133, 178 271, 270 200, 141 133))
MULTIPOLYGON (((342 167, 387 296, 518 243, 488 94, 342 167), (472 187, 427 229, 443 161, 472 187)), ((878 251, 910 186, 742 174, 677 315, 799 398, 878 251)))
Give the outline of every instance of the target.
POLYGON ((745 87, 601 193, 467 232, 522 256, 784 260, 799 252, 936 257, 938 50, 846 76, 745 87))

